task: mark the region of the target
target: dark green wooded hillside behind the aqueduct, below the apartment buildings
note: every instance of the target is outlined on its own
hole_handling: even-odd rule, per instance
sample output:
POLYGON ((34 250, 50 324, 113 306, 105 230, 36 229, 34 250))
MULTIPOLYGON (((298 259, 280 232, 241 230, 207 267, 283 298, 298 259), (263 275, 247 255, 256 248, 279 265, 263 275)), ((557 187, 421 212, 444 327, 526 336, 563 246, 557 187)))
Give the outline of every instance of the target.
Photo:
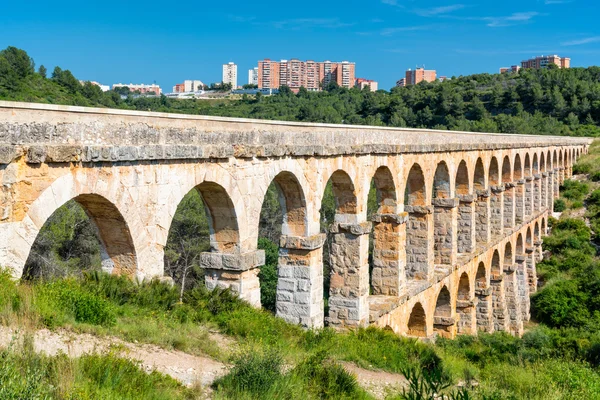
POLYGON ((133 98, 81 85, 68 70, 35 71, 23 50, 0 52, 0 99, 289 121, 423 127, 478 132, 600 135, 600 67, 461 76, 443 83, 369 92, 282 88, 241 100, 133 98))

